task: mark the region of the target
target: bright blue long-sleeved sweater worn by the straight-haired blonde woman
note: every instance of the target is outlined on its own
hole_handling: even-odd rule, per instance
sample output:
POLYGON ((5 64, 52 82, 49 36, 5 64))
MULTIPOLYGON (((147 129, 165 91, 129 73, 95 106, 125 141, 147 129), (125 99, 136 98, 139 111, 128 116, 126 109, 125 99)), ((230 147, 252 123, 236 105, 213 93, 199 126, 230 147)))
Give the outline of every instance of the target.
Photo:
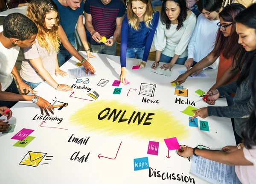
POLYGON ((135 30, 128 23, 127 14, 122 22, 122 31, 121 31, 121 67, 126 67, 126 52, 127 47, 131 48, 142 48, 145 46, 143 61, 148 60, 149 51, 154 39, 154 34, 156 32, 157 23, 159 20, 159 12, 153 14, 153 19, 149 28, 146 26, 145 22, 140 22, 140 28, 135 30))

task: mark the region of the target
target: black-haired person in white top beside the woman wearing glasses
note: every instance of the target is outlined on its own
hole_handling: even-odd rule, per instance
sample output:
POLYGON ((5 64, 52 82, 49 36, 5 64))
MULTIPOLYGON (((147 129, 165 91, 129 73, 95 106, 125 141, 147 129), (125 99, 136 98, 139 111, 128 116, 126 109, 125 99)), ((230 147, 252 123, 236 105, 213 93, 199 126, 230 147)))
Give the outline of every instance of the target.
MULTIPOLYGON (((198 16, 194 31, 188 45, 188 59, 185 66, 189 69, 206 57, 214 48, 218 32, 219 11, 223 0, 203 0, 202 13, 198 16)), ((215 61, 209 68, 216 69, 219 60, 215 61)), ((201 70, 200 70, 201 71, 201 70)), ((200 73, 197 72, 197 74, 200 73)))

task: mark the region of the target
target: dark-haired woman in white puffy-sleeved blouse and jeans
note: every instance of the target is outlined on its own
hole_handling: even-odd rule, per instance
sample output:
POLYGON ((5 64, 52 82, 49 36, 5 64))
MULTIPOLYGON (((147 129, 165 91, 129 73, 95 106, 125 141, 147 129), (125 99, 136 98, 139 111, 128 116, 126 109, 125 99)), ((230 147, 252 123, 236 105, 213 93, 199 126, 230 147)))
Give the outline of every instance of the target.
POLYGON ((188 56, 187 46, 195 28, 196 16, 187 9, 186 0, 164 0, 157 25, 154 46, 155 69, 160 62, 166 62, 161 69, 171 71, 174 64, 184 65, 188 56))

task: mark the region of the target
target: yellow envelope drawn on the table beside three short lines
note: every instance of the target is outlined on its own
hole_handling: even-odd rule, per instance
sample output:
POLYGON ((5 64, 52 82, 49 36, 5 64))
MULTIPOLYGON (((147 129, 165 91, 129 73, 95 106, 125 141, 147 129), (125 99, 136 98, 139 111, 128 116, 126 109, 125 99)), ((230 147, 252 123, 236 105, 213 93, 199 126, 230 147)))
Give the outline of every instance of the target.
POLYGON ((38 153, 38 152, 29 151, 20 162, 20 165, 37 167, 38 164, 44 159, 46 154, 47 153, 38 153))

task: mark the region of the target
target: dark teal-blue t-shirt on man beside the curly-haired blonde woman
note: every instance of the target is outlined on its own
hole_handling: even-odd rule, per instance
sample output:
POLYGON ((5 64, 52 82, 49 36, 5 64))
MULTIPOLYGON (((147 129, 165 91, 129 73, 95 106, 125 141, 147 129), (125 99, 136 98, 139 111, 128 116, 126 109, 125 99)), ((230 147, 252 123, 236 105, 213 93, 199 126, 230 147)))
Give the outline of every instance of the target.
POLYGON ((83 14, 84 2, 82 1, 80 7, 76 10, 71 9, 69 6, 63 6, 58 0, 53 0, 58 6, 58 14, 60 16, 60 24, 67 35, 68 41, 75 44, 75 29, 76 23, 81 14, 83 14))

